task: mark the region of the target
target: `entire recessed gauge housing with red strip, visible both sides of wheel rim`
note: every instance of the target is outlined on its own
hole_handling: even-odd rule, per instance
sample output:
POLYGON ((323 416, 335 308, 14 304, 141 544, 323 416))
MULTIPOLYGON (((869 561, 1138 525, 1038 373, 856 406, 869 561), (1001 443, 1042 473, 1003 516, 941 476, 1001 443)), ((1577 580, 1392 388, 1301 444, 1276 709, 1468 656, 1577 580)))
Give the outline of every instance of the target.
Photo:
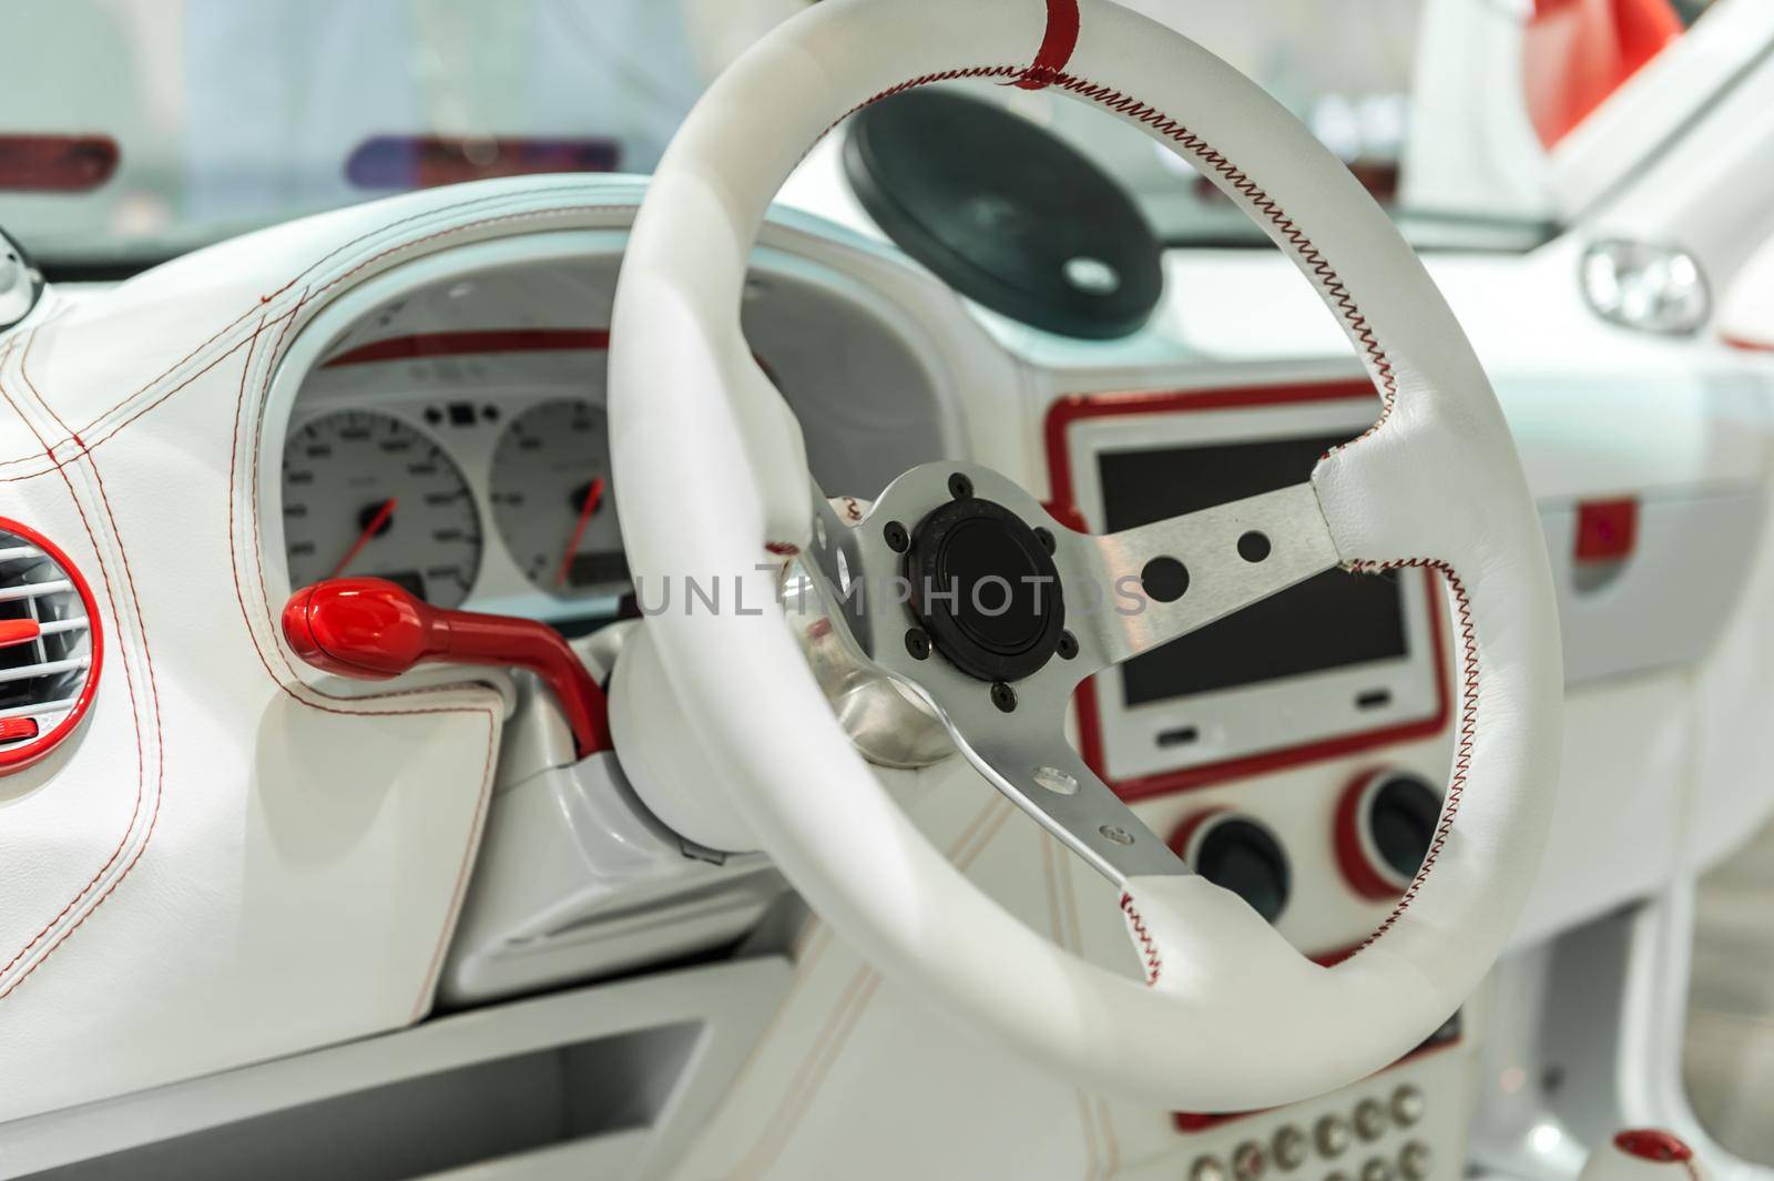
MULTIPOLYGON (((566 635, 639 614, 605 415, 614 259, 451 268, 346 328, 282 422, 268 516, 293 589, 387 578, 566 635)), ((949 454, 903 326, 830 275, 761 270, 745 325, 830 486, 949 454)))

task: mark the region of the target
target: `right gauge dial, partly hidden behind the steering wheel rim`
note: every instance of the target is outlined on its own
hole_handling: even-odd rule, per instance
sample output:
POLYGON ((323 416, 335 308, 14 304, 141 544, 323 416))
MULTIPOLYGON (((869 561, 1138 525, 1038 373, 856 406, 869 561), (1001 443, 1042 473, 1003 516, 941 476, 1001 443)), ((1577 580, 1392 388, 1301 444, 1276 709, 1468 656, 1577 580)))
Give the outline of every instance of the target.
POLYGON ((530 406, 493 454, 493 520, 518 567, 555 596, 628 589, 610 488, 610 424, 587 401, 530 406))

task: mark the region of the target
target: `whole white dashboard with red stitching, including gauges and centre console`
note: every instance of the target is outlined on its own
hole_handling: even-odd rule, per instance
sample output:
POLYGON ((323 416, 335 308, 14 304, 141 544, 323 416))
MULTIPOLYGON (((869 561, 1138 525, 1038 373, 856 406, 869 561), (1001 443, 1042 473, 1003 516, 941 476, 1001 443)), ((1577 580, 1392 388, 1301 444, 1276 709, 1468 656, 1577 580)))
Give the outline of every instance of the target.
MULTIPOLYGON (((461 670, 445 670, 447 683, 364 695, 294 667, 279 647, 289 594, 346 573, 394 578, 440 606, 543 621, 600 672, 621 660, 640 589, 623 562, 603 367, 635 197, 621 183, 585 183, 568 200, 536 181, 502 181, 401 199, 410 223, 389 209, 342 211, 277 231, 270 245, 227 246, 238 266, 176 264, 85 305, 67 301, 28 351, 0 353, 9 394, 28 376, 82 438, 98 440, 90 488, 69 473, 73 489, 57 491, 60 468, 41 443, 23 429, 0 434, 0 465, 18 481, 9 488, 35 497, 28 514, 94 576, 112 645, 110 688, 82 747, 43 764, 75 784, 82 817, 34 821, 32 832, 60 833, 44 848, 75 846, 43 872, 73 878, 69 892, 89 878, 108 883, 92 871, 112 864, 117 832, 122 865, 153 837, 142 864, 174 865, 167 878, 179 883, 160 896, 124 888, 105 917, 167 942, 167 956, 213 965, 200 979, 145 982, 153 1023, 92 1005, 94 1036, 137 1048, 106 1055, 115 1073, 99 1083, 51 1080, 62 1089, 34 1091, 32 1103, 403 1030, 435 1005, 598 989, 642 968, 752 949, 772 919, 805 917, 766 858, 710 858, 649 823, 619 759, 575 763, 534 739, 539 709, 522 683, 465 684, 461 670), (110 348, 122 339, 131 349, 110 348), (89 372, 99 356, 117 358, 121 372, 89 372), (140 392, 119 401, 119 388, 140 392), (169 456, 188 479, 167 479, 169 456), (110 528, 114 518, 115 541, 69 541, 85 536, 83 521, 110 528), (135 608, 122 598, 122 559, 153 551, 177 553, 190 576, 135 580, 135 608), (417 692, 442 704, 390 700, 417 692), (161 752, 169 770, 156 780, 161 752), (140 778, 119 782, 117 766, 140 778), (169 805, 156 816, 149 805, 161 791, 169 805), (593 849, 617 812, 628 816, 619 842, 593 849), (163 849, 204 860, 186 867, 163 849), (188 920, 197 903, 184 881, 202 881, 204 899, 229 910, 188 920), (239 933, 238 943, 216 943, 215 931, 239 933), (465 970, 493 961, 497 972, 465 970), (332 966, 351 963, 376 970, 332 966), (310 986, 314 965, 328 965, 326 989, 310 986), (231 1007, 232 997, 254 1004, 231 1007), (266 1021, 266 1005, 305 1025, 266 1021), (130 1041, 137 1025, 154 1030, 151 1044, 130 1041)), ((1511 261, 1526 275, 1511 282, 1556 289, 1535 268, 1566 262, 1511 261)), ((832 495, 867 498, 905 468, 963 458, 1017 479, 1079 528, 1114 530, 1297 482, 1325 445, 1373 420, 1373 388, 1346 344, 1318 332, 1323 309, 1274 296, 1263 356, 1226 344, 1231 333, 1215 337, 1228 316, 1221 291, 1293 291, 1297 275, 1279 259, 1190 255, 1167 266, 1150 333, 1061 348, 963 303, 866 225, 781 209, 754 255, 742 316, 832 495)), ((1763 679, 1774 661, 1762 658, 1769 637, 1746 603, 1774 594, 1774 564, 1763 456, 1737 426, 1762 413, 1762 387, 1723 365, 1609 353, 1581 323, 1563 335, 1595 358, 1593 372, 1510 351, 1547 337, 1497 319, 1513 305, 1490 298, 1490 266, 1437 261, 1437 280, 1487 349, 1540 500, 1572 718, 1527 943, 1660 888, 1758 819, 1765 802, 1735 786, 1753 778, 1756 752, 1742 734, 1774 697, 1763 679), (1604 394, 1605 434, 1595 410, 1604 394), (1673 612, 1673 601, 1694 610, 1673 612), (1673 782, 1692 782, 1692 798, 1671 793, 1673 782)), ((1098 676, 1073 702, 1071 738, 1153 832, 1329 963, 1384 920, 1430 841, 1455 725, 1448 630, 1446 587, 1423 571, 1323 576, 1268 615, 1098 676)), ((1102 883, 1061 865, 960 763, 917 782, 883 775, 938 846, 1025 924, 1135 972, 1102 883)), ((69 798, 21 787, 9 821, 69 798)), ((66 903, 62 878, 39 890, 48 915, 66 903)), ((67 922, 89 910, 73 906, 67 922)), ((90 943, 121 927, 83 929, 90 943)), ((864 1021, 876 995, 859 982, 871 979, 867 966, 836 940, 805 938, 772 945, 804 956, 805 982, 770 998, 798 1005, 786 1037, 855 1030, 878 1055, 930 1055, 917 1076, 977 1069, 993 1092, 1038 1087, 1027 1071, 930 1037, 921 1014, 887 1000, 891 989, 878 989, 864 1021)), ((1458 1176, 1487 1020, 1478 997, 1440 1041, 1385 1076, 1297 1108, 1238 1119, 1118 1108, 1123 1147, 1128 1158, 1137 1146, 1187 1158, 1173 1163, 1199 1158, 1201 1181, 1213 1181, 1212 1165, 1244 1160, 1251 1172, 1251 1144, 1267 1160, 1286 1144, 1293 1158, 1302 1135, 1318 1144, 1322 1119, 1354 1126, 1357 1110, 1396 1103, 1368 1117, 1384 1126, 1357 1137, 1364 1147, 1339 1142, 1346 1128, 1327 1133, 1330 1147, 1309 1154, 1316 1176, 1382 1156, 1400 1176, 1405 1161, 1458 1176), (1425 1146, 1437 1163, 1423 1163, 1425 1146)), ((759 1076, 797 1076, 793 1046, 766 1057, 775 1053, 789 1057, 768 1059, 759 1076)), ((18 1062, 53 1075, 41 1057, 18 1062)), ((970 1115, 940 1091, 883 1099, 930 1126, 970 1115)), ((1073 1107, 1070 1092, 1059 1099, 1073 1107)))

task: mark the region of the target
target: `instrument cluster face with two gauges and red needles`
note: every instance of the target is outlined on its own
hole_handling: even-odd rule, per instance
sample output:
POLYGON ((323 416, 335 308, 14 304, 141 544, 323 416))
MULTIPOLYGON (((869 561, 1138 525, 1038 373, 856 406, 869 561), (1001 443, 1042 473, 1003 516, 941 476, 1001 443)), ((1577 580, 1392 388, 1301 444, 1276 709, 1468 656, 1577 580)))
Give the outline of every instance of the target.
POLYGON ((596 619, 630 592, 610 482, 603 353, 364 364, 289 422, 289 585, 371 576, 435 606, 596 619), (543 365, 532 362, 543 360, 543 365), (463 365, 493 379, 456 383, 463 365), (545 376, 546 374, 546 376, 545 376))

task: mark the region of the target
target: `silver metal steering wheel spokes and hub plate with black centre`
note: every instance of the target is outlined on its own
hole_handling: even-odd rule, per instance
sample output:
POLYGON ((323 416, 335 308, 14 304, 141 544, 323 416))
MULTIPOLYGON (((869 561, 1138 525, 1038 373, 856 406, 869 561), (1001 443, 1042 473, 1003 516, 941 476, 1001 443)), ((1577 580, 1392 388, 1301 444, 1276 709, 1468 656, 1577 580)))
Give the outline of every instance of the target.
POLYGON ((1309 484, 1096 537, 970 463, 912 468, 860 520, 814 489, 802 562, 850 658, 1118 885, 1190 871, 1064 741, 1079 683, 1336 564, 1309 484))

